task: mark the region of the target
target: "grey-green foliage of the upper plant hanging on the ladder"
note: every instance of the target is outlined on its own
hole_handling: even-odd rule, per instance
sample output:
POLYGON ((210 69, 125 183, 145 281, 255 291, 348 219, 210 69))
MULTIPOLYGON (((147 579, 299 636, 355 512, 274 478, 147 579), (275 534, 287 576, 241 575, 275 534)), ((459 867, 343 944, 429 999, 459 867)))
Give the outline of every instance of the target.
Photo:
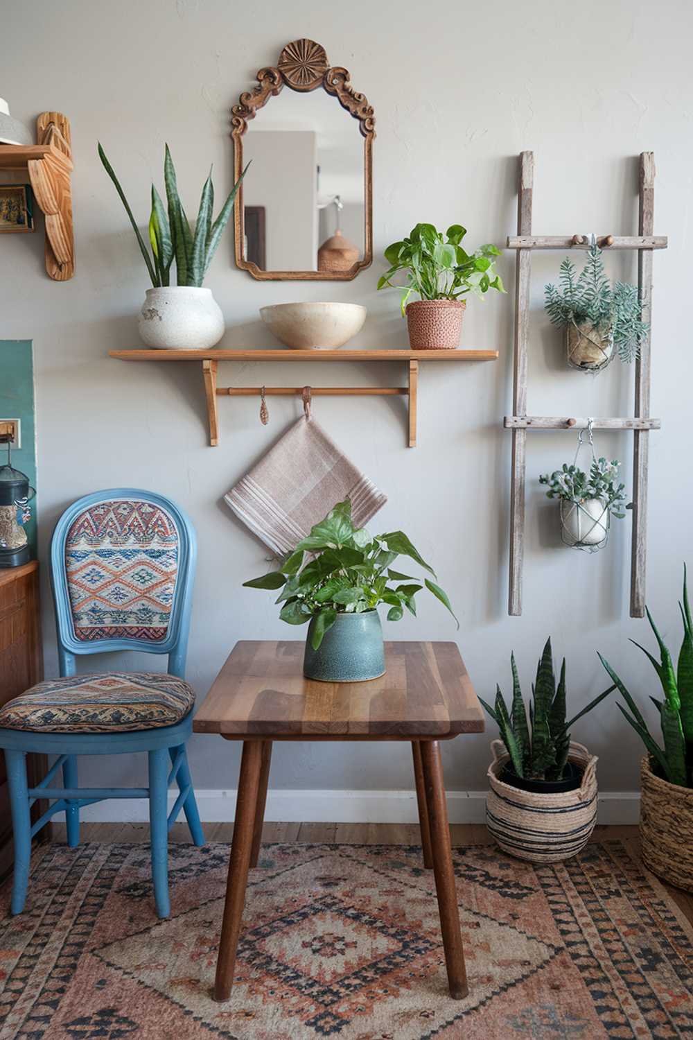
POLYGON ((579 278, 572 261, 566 257, 558 281, 560 289, 555 285, 544 286, 545 309, 554 324, 588 322, 603 335, 613 335, 621 361, 637 358, 649 329, 642 320, 637 286, 616 282, 612 289, 598 245, 590 248, 579 278))

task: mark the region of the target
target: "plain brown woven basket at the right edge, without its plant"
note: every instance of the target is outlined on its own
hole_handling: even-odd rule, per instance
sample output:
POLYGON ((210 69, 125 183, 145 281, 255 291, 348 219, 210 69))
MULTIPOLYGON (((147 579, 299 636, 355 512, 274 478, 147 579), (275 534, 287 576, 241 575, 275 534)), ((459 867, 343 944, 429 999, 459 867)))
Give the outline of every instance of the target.
POLYGON ((693 788, 640 768, 640 854, 645 866, 676 888, 693 892, 693 788))

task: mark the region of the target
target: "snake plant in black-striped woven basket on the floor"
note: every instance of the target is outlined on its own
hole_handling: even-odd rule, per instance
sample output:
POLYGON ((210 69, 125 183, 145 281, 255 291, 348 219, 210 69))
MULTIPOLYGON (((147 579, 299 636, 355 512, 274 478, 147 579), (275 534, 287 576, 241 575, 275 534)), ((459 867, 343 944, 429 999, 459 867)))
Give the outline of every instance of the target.
POLYGON ((500 686, 494 707, 479 698, 501 733, 501 740, 491 744, 486 826, 511 856, 556 863, 577 855, 596 823, 596 758, 570 740, 569 730, 615 686, 566 722, 565 658, 557 684, 549 639, 537 666, 528 722, 514 654, 510 667, 510 709, 500 686))

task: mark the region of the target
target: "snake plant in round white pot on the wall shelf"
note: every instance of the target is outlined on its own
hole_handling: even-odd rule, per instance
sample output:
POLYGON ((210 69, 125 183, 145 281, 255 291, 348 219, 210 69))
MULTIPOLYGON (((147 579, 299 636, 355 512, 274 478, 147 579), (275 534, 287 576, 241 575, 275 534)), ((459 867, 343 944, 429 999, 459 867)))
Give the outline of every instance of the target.
MULTIPOLYGON (((208 349, 223 336, 223 315, 212 296, 212 290, 203 281, 219 239, 231 216, 234 200, 245 171, 234 184, 219 215, 213 219, 214 186, 212 172, 205 181, 194 233, 185 215, 178 194, 176 168, 166 145, 164 157, 164 185, 167 213, 154 184, 152 185, 152 212, 149 237, 152 256, 137 227, 128 200, 113 167, 101 145, 99 157, 106 173, 115 185, 126 212, 130 217, 153 288, 139 315, 139 335, 148 346, 181 349, 208 349), (170 268, 176 259, 176 285, 170 285, 170 268)), ((246 167, 247 168, 247 167, 246 167)))

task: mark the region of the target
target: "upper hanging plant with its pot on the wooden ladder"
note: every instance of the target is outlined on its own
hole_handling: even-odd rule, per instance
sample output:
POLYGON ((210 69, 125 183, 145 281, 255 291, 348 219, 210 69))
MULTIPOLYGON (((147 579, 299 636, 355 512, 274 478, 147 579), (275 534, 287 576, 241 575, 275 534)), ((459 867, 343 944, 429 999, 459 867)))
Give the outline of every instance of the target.
POLYGON ((648 326, 635 285, 611 286, 604 269, 602 250, 590 246, 579 277, 571 260, 563 260, 559 286, 547 285, 545 309, 555 326, 565 329, 567 361, 583 372, 606 368, 614 350, 623 362, 638 356, 648 326))

